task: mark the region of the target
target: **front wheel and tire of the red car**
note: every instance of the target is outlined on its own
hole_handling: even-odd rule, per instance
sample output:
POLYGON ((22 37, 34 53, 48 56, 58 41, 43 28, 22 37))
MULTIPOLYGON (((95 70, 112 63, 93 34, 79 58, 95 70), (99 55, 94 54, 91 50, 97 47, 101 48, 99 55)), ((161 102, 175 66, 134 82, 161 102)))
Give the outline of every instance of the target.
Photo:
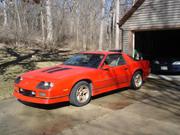
POLYGON ((78 82, 71 91, 70 103, 75 106, 84 106, 91 99, 91 87, 86 81, 78 82))

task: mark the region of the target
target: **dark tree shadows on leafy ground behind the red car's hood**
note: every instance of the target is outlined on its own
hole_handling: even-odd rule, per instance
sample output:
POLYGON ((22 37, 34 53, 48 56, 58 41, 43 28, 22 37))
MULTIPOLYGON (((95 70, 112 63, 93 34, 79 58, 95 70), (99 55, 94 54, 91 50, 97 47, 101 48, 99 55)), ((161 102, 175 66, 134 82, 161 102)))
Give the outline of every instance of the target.
MULTIPOLYGON (((11 65, 22 65, 27 70, 34 70, 35 65, 34 62, 42 62, 42 61, 64 61, 67 59, 69 54, 73 54, 71 50, 62 49, 62 50, 41 50, 41 49, 30 49, 26 52, 21 52, 16 48, 4 48, 0 50, 5 54, 4 56, 8 60, 4 62, 0 62, 0 74, 3 74, 6 69, 11 65), (12 59, 12 60, 11 60, 12 59)), ((3 61, 3 59, 2 59, 3 61)))

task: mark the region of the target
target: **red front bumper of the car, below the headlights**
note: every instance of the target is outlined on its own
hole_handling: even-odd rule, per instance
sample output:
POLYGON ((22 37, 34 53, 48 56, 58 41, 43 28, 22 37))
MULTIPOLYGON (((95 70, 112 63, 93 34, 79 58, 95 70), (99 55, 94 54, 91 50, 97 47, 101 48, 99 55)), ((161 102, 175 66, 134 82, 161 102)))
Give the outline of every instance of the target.
POLYGON ((21 94, 18 90, 14 90, 13 95, 25 102, 30 102, 30 103, 37 103, 37 104, 55 104, 59 102, 66 102, 69 101, 69 96, 59 96, 59 97, 30 97, 30 96, 25 96, 21 94))

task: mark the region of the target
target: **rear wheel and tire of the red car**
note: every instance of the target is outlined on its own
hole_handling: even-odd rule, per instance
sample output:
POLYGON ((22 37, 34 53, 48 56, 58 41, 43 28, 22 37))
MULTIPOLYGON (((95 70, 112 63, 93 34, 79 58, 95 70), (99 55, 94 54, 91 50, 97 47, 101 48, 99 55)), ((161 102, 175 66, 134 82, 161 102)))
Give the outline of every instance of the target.
POLYGON ((141 71, 136 71, 131 80, 131 88, 132 89, 140 89, 143 84, 143 77, 141 71))

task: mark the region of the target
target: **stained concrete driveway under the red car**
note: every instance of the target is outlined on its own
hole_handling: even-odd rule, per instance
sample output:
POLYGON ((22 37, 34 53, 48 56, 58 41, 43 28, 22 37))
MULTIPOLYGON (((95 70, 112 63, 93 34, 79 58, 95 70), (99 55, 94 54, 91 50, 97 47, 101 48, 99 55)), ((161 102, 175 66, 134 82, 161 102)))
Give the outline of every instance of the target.
POLYGON ((180 135, 180 76, 151 75, 137 91, 94 97, 84 107, 0 101, 1 135, 180 135))

